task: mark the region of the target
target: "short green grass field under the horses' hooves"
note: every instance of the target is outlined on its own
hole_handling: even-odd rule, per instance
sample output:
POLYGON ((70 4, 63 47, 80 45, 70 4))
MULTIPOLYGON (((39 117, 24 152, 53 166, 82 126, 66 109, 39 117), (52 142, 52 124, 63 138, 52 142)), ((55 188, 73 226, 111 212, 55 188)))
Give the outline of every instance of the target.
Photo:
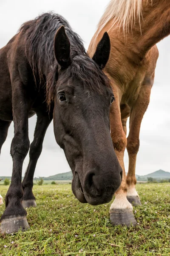
MULTIPOLYGON (((5 197, 8 186, 0 186, 5 197)), ((37 208, 27 209, 30 229, 0 234, 2 256, 168 256, 170 183, 138 184, 142 206, 134 207, 138 225, 112 227, 111 203, 91 206, 75 199, 70 184, 34 186, 37 208)), ((2 215, 4 205, 0 207, 2 215)))

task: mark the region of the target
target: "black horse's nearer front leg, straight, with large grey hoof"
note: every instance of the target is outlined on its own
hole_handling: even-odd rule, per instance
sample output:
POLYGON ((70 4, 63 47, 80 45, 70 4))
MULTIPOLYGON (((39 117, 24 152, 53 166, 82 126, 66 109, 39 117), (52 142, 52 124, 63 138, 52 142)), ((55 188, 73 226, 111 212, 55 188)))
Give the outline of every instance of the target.
POLYGON ((1 232, 14 233, 26 230, 29 225, 26 219, 26 210, 22 206, 23 188, 22 168, 23 161, 29 150, 28 113, 31 109, 31 100, 27 96, 28 87, 16 79, 12 84, 12 105, 14 118, 14 138, 11 143, 13 170, 11 184, 6 194, 6 209, 1 217, 1 232))

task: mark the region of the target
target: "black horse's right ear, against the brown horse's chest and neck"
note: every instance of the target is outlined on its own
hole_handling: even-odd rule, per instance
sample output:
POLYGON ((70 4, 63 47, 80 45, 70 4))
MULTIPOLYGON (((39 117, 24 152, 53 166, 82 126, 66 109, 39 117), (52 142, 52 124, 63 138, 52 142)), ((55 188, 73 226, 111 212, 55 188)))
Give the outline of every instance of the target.
POLYGON ((104 33, 102 39, 99 41, 93 60, 103 69, 108 62, 111 51, 111 41, 107 32, 104 33))

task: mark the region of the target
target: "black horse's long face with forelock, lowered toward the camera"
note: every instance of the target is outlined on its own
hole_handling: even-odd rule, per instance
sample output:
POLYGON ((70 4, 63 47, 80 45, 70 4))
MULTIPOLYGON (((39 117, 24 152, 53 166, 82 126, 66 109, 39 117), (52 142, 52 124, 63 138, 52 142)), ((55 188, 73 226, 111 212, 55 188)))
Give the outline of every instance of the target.
MULTIPOLYGON (((61 30, 56 37, 62 33, 65 37, 64 28, 61 30)), ((102 40, 99 44, 108 44, 110 50, 106 34, 102 40)), ((69 49, 65 44, 66 48, 69 49)), ((122 180, 110 135, 113 93, 100 68, 105 66, 109 52, 106 58, 102 60, 99 56, 97 61, 99 47, 97 50, 94 60, 82 55, 72 61, 70 53, 68 58, 61 59, 55 51, 60 68, 55 91, 54 134, 73 172, 74 195, 80 202, 92 205, 111 201, 122 180)))

